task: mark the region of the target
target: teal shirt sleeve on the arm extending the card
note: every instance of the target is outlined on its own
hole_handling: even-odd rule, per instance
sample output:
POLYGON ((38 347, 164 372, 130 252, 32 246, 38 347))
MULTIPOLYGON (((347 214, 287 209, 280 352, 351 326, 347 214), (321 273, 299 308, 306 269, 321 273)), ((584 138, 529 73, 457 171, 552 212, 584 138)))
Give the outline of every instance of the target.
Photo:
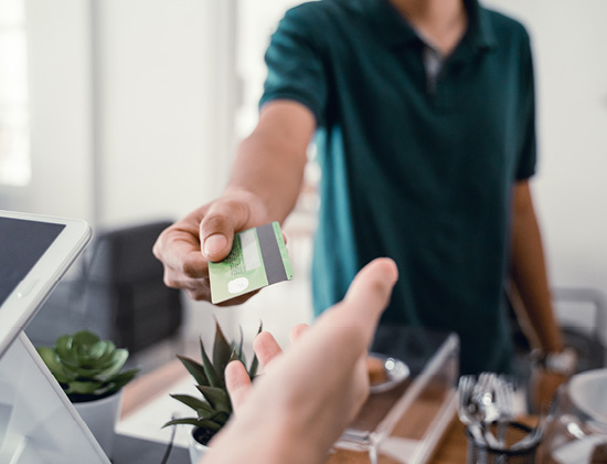
POLYGON ((280 20, 265 55, 267 77, 259 107, 274 99, 292 99, 306 105, 317 124, 323 123, 327 78, 315 40, 317 24, 312 3, 290 9, 280 20))

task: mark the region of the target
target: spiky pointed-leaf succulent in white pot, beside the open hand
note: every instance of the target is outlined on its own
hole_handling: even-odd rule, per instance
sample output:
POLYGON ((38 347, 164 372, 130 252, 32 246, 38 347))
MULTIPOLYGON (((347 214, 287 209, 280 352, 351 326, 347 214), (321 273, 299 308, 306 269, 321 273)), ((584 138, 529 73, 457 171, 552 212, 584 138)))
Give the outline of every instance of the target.
MULTIPOLYGON (((259 325, 258 333, 262 331, 259 325)), ((163 426, 188 424, 193 425, 190 436, 190 457, 192 464, 196 464, 206 450, 209 441, 217 433, 232 415, 232 401, 225 387, 225 367, 233 360, 239 360, 246 367, 246 357, 243 351, 243 334, 238 344, 228 341, 217 321, 215 321, 215 341, 211 358, 206 355, 202 338, 200 340, 202 363, 179 356, 188 372, 194 378, 200 397, 190 394, 171 394, 195 412, 190 418, 178 418, 167 422, 163 426)), ((247 369, 253 380, 257 372, 257 356, 247 369)))

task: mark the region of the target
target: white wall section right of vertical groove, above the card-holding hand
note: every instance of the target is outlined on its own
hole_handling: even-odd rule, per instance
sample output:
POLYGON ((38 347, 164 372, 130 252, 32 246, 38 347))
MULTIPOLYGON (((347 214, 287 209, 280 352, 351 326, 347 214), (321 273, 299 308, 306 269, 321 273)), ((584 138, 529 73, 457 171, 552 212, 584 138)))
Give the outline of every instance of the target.
POLYGON ((235 104, 230 6, 98 2, 104 224, 177 219, 221 191, 235 104))

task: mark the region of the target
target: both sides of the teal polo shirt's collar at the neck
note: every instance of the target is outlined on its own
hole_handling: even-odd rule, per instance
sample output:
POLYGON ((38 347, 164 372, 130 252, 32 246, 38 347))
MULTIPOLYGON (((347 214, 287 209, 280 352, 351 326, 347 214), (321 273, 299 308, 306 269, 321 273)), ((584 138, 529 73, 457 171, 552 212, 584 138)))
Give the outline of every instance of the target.
MULTIPOLYGON (((364 2, 380 34, 391 46, 420 41, 415 30, 388 0, 365 0, 364 2)), ((468 11, 468 30, 462 39, 466 46, 472 49, 496 46, 496 34, 487 10, 478 4, 478 0, 464 0, 464 4, 468 11)))

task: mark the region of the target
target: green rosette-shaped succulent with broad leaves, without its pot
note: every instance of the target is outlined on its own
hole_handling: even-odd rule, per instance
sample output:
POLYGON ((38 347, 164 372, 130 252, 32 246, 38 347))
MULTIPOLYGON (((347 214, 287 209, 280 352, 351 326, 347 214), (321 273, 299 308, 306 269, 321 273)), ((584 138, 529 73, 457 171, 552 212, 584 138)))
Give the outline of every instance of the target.
POLYGON ((72 402, 109 397, 126 386, 139 371, 121 371, 129 352, 81 330, 62 335, 54 347, 36 348, 40 357, 72 402))

